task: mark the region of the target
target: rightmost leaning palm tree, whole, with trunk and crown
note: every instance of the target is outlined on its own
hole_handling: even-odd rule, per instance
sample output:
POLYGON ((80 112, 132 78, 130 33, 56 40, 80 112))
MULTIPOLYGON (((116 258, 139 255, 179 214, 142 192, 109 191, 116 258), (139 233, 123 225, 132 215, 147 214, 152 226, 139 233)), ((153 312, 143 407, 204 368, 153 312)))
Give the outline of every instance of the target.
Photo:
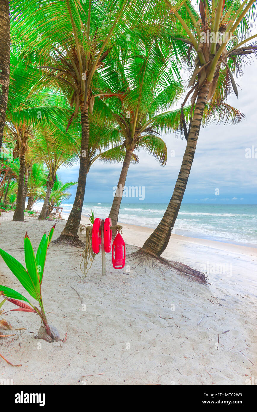
POLYGON ((214 101, 224 104, 231 88, 237 95, 232 72, 241 70, 243 56, 255 54, 257 50, 255 44, 246 45, 257 37, 248 37, 255 14, 254 0, 244 0, 242 3, 239 0, 212 0, 211 3, 200 0, 200 16, 189 0, 175 5, 171 5, 168 0, 164 1, 174 22, 171 26, 173 42, 176 42, 180 56, 186 58, 187 55, 187 61, 194 57, 194 71, 189 81, 190 90, 185 98, 187 101, 192 94, 189 124, 183 119, 182 110, 187 145, 181 169, 166 212, 143 245, 145 252, 156 256, 160 256, 166 249, 178 216, 206 103, 214 101), (208 37, 209 33, 213 33, 212 37, 208 37), (185 45, 188 45, 186 54, 185 45))

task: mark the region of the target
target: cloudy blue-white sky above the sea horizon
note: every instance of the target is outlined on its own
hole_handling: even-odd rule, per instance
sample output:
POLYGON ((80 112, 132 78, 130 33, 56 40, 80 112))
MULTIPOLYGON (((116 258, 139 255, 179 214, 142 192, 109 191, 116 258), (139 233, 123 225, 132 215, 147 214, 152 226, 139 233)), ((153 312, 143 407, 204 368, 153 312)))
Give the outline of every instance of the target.
MULTIPOLYGON (((227 102, 243 112, 245 119, 234 126, 212 124, 201 129, 184 203, 257 204, 256 71, 257 61, 245 67, 243 77, 236 80, 238 99, 233 95, 227 102), (252 151, 256 151, 256 158, 247 158, 252 151)), ((126 186, 145 187, 144 203, 167 203, 178 177, 186 142, 174 134, 163 138, 168 148, 166 166, 140 152, 140 163, 129 168, 126 186)), ((86 179, 85 203, 112 202, 120 170, 121 165, 94 163, 86 179)), ((79 165, 62 168, 59 176, 63 182, 76 182, 78 171, 79 165)), ((76 187, 70 201, 75 191, 76 187)), ((131 202, 131 198, 123 201, 131 202)))

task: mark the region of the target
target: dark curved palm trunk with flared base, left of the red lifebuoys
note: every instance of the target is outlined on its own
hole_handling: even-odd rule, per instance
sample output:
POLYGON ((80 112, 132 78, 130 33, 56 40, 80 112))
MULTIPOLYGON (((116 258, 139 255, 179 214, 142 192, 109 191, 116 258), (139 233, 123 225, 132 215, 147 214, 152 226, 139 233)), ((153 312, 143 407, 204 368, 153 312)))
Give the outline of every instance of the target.
POLYGON ((83 105, 80 108, 81 113, 81 148, 80 148, 80 164, 79 178, 77 184, 77 192, 75 200, 66 222, 66 225, 61 232, 61 235, 53 243, 65 243, 69 246, 84 246, 84 243, 79 241, 77 234, 82 215, 82 206, 84 202, 86 188, 86 171, 88 164, 88 147, 89 147, 89 117, 88 106, 86 105, 83 111, 83 105))

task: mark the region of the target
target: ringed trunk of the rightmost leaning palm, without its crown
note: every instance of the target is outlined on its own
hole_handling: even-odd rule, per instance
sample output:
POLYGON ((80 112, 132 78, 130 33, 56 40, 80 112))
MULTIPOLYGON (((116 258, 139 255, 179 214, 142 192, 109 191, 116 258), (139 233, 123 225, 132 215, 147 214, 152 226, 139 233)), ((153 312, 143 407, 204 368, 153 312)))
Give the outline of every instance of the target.
POLYGON ((185 154, 183 156, 182 165, 178 175, 178 180, 175 184, 173 195, 171 197, 170 203, 164 213, 161 222, 154 229, 154 232, 145 241, 143 250, 146 253, 150 253, 155 256, 160 256, 161 253, 166 249, 168 242, 171 237, 171 232, 174 227, 175 221, 180 210, 181 202, 187 187, 187 181, 189 178, 189 173, 191 171, 192 163, 194 160, 194 153, 196 150, 196 143, 199 136, 199 131, 201 127, 203 110, 206 106, 207 96, 210 89, 210 82, 206 82, 201 90, 199 91, 196 107, 194 110, 194 116, 192 120, 191 130, 187 139, 187 146, 185 154))

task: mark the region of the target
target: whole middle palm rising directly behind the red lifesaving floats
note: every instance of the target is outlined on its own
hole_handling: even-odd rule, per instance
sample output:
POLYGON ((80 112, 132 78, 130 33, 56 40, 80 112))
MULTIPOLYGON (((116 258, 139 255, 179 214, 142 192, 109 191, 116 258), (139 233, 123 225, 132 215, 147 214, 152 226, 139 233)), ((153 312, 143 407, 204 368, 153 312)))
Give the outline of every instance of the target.
POLYGON ((166 164, 167 148, 159 137, 159 118, 156 114, 182 96, 183 87, 177 68, 174 70, 173 58, 173 52, 159 42, 155 33, 152 38, 141 39, 135 49, 131 48, 126 61, 118 65, 116 76, 111 79, 112 89, 109 87, 108 94, 116 96, 110 102, 110 110, 115 110, 113 117, 123 137, 121 149, 126 151, 109 214, 113 225, 117 225, 133 152, 144 149, 161 166, 166 164))

